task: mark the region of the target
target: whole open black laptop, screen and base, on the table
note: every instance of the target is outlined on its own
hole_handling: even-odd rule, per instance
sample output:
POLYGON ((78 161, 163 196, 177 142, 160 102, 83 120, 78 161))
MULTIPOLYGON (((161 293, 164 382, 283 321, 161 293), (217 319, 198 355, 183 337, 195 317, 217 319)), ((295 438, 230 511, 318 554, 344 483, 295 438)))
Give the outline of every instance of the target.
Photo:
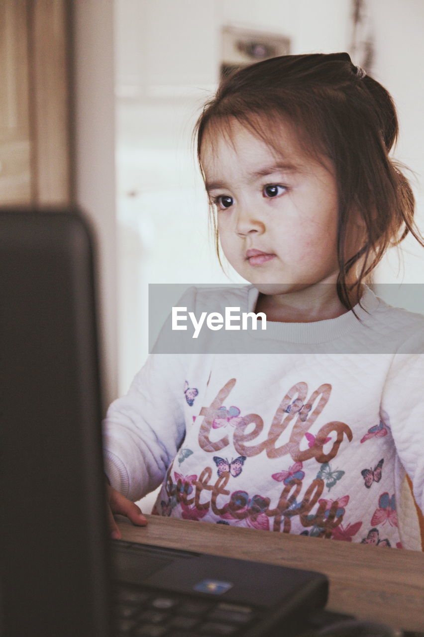
POLYGON ((292 634, 325 576, 108 539, 92 243, 78 211, 0 211, 0 634, 292 634))

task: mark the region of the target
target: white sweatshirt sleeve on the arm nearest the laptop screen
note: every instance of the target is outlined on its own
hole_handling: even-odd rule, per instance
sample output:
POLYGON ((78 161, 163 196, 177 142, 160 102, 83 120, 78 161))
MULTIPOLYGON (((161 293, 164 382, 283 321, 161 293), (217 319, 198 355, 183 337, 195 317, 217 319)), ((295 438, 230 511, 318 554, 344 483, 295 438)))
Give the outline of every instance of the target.
MULTIPOLYGON (((187 290, 178 304, 195 306, 195 288, 187 290)), ((189 359, 189 354, 150 354, 129 392, 110 405, 104 419, 106 475, 133 501, 162 483, 185 436, 189 359)))

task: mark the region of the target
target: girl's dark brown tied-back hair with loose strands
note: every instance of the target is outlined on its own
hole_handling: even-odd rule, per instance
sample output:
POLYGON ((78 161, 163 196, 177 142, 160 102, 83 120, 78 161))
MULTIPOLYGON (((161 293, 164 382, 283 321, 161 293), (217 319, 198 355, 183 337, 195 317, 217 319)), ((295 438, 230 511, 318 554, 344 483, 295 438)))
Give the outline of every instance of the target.
MULTIPOLYGON (((337 294, 348 310, 388 247, 398 245, 409 232, 424 245, 413 220, 409 182, 388 156, 398 134, 395 104, 347 53, 283 55, 225 78, 195 126, 200 165, 205 131, 219 126, 230 134, 233 118, 277 152, 276 131, 284 118, 295 127, 307 152, 327 157, 334 165, 339 204, 337 294), (352 210, 362 217, 365 238, 346 261, 352 210), (348 287, 346 275, 360 260, 357 281, 348 287)), ((219 258, 215 218, 213 224, 219 258)))

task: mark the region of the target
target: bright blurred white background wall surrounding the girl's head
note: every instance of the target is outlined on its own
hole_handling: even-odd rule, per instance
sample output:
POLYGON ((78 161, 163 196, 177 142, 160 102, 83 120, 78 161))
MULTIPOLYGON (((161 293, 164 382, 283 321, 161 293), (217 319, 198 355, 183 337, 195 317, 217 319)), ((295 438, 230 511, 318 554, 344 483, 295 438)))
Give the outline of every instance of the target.
MULTIPOLYGON (((285 36, 291 54, 348 51, 367 66, 397 103, 395 156, 416 175, 424 227, 421 0, 115 0, 120 392, 147 354, 148 283, 242 281, 216 261, 191 144, 218 82, 223 27, 285 36)), ((403 252, 405 268, 393 251, 376 283, 424 283, 420 247, 403 252)))

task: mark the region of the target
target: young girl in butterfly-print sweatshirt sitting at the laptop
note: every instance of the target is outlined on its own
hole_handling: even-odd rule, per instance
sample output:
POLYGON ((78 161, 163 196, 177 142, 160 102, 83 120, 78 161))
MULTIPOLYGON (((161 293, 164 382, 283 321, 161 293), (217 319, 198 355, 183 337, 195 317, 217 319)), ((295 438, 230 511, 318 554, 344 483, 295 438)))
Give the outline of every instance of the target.
POLYGON ((132 501, 162 483, 159 515, 420 550, 406 474, 422 508, 424 317, 365 285, 390 245, 423 242, 397 130, 348 54, 223 80, 197 149, 217 248, 251 285, 179 306, 262 312, 266 330, 246 350, 209 330, 201 354, 150 355, 106 418, 112 512, 146 524, 132 501))

